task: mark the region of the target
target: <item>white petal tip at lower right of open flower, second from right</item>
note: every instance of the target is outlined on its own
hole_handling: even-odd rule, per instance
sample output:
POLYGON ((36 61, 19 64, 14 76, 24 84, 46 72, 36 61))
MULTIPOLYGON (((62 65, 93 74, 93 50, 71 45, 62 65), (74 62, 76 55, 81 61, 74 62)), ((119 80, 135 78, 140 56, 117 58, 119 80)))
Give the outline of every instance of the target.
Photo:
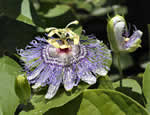
POLYGON ((87 72, 83 76, 81 76, 81 80, 88 84, 96 83, 96 77, 93 76, 91 72, 87 72))

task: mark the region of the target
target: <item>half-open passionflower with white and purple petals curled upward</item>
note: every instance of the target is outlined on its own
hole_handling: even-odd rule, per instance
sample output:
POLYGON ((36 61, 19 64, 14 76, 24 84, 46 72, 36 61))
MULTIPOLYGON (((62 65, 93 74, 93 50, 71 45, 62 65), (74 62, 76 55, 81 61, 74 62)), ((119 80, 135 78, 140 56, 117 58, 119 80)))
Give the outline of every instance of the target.
POLYGON ((116 15, 108 20, 108 39, 114 52, 133 52, 140 47, 142 32, 135 29, 130 36, 125 19, 116 15))

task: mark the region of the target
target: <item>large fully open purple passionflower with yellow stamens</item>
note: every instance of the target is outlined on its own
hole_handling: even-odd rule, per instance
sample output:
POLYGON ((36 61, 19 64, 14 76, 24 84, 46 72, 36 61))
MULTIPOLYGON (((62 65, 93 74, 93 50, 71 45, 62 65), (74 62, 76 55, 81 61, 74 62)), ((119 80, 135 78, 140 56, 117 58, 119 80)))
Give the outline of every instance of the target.
POLYGON ((49 85, 46 99, 51 99, 62 84, 70 91, 82 80, 96 83, 95 74, 105 76, 111 65, 111 53, 95 36, 79 36, 70 28, 47 28, 47 37, 36 37, 19 55, 25 62, 32 88, 49 85))

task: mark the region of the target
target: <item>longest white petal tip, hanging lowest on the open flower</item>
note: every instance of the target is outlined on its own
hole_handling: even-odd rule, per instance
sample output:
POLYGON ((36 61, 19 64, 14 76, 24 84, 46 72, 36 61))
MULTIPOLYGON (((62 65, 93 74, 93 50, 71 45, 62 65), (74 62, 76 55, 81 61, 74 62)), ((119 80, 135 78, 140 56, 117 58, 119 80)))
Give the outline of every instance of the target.
POLYGON ((46 99, 51 99, 52 97, 54 97, 55 94, 57 93, 59 85, 60 85, 60 83, 56 84, 56 85, 50 84, 49 88, 48 88, 48 91, 47 91, 47 93, 45 95, 45 98, 46 99))

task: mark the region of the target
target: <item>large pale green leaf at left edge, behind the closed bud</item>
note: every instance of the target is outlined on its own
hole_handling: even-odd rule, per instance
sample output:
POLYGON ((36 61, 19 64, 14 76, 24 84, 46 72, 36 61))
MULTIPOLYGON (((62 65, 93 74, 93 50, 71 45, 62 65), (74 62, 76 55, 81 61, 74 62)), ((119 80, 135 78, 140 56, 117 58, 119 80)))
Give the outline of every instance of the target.
POLYGON ((19 104, 14 83, 20 70, 20 66, 11 58, 0 58, 0 115, 14 115, 19 104))

